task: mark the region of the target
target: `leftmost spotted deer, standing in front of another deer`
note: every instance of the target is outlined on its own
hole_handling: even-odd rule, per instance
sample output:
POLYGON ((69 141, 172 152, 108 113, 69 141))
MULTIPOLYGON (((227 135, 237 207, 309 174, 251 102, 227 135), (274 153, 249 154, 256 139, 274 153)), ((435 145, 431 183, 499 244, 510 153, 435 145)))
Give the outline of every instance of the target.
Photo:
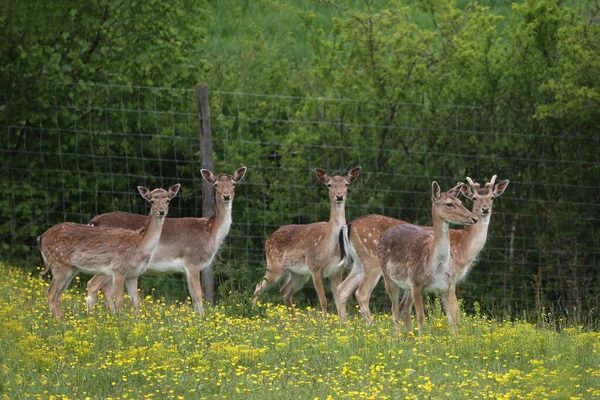
POLYGON ((176 184, 168 190, 138 186, 138 191, 152 206, 150 217, 137 231, 118 228, 94 228, 89 225, 63 222, 37 238, 42 275, 52 272, 48 288, 48 304, 55 318, 62 319, 60 299, 75 276, 81 271, 102 274, 115 288, 112 312, 123 307, 124 285, 128 292, 137 292, 138 277, 144 273, 156 250, 163 231, 169 202, 179 192, 176 184))

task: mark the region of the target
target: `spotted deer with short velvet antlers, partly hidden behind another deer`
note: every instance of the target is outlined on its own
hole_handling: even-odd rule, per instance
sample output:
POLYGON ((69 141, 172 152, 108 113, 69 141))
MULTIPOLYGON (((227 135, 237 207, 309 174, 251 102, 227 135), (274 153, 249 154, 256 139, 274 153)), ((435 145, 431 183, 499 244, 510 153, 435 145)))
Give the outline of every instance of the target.
MULTIPOLYGON (((462 279, 466 278, 485 245, 494 199, 500 197, 508 187, 508 179, 496 184, 496 178, 497 175, 494 175, 484 187, 481 187, 480 184, 467 177, 469 185, 461 188, 461 194, 473 202, 472 213, 480 220, 478 224, 467 226, 462 230, 450 230, 450 245, 456 249, 457 257, 454 264, 455 268, 462 269, 462 279), (458 251, 458 249, 462 250, 458 251)), ((344 247, 352 258, 352 267, 346 279, 339 286, 340 309, 338 309, 338 314, 340 321, 345 320, 348 298, 356 289, 355 296, 361 314, 367 324, 373 324, 369 299, 381 277, 377 254, 379 239, 389 228, 405 223, 399 219, 370 214, 359 217, 342 228, 344 247)))

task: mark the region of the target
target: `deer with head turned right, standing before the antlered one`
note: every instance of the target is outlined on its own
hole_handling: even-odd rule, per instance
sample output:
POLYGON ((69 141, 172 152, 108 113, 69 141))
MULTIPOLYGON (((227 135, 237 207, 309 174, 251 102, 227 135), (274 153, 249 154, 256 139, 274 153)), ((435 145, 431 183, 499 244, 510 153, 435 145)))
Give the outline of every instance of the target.
POLYGON ((454 257, 450 251, 449 224, 472 225, 477 218, 467 210, 456 197, 463 184, 446 193, 433 182, 431 215, 433 231, 423 227, 396 225, 381 236, 379 259, 385 288, 392 300, 392 315, 396 332, 400 333, 399 317, 402 313, 406 331, 411 331, 410 310, 412 303, 417 311, 419 337, 423 336, 423 291, 442 290, 442 301, 448 322, 456 335, 458 303, 456 301, 456 271, 454 257), (400 304, 400 290, 410 290, 400 304), (400 310, 400 307, 402 310, 400 310))

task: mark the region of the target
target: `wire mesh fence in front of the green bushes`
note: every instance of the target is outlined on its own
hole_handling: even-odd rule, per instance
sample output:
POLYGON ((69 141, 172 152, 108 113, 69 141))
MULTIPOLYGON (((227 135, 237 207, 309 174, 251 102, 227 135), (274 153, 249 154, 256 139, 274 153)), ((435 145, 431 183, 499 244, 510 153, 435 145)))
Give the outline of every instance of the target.
MULTIPOLYGON (((1 256, 35 253, 50 226, 114 211, 146 213, 136 186, 182 184, 170 217, 201 217, 196 92, 47 84, 36 104, 5 99, 0 140, 1 256)), ((459 296, 502 313, 594 317, 600 306, 598 135, 475 106, 211 91, 214 172, 247 166, 219 281, 264 274, 279 226, 326 220, 333 174, 360 165, 347 220, 376 213, 430 224, 430 186, 494 174, 511 183, 494 204, 487 245, 459 296)), ((469 203, 467 200, 465 203, 469 203)), ((169 278, 167 278, 169 279, 169 278)), ((382 286, 382 285, 381 285, 382 286)), ((376 301, 386 302, 380 290, 376 301)))

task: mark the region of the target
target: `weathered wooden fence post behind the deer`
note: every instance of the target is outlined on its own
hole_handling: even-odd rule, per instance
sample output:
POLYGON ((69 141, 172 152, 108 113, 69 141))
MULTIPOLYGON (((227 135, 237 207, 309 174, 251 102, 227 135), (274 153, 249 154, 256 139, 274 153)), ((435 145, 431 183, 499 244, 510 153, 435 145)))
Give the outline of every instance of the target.
MULTIPOLYGON (((196 86, 198 99, 198 123, 200 125, 200 157, 201 167, 213 171, 212 158, 212 133, 210 130, 210 107, 208 104, 208 85, 199 83, 196 86)), ((209 218, 215 205, 215 192, 211 184, 202 181, 202 216, 209 218)), ((213 266, 202 271, 202 286, 204 286, 204 297, 210 304, 214 305, 214 276, 213 266)))

